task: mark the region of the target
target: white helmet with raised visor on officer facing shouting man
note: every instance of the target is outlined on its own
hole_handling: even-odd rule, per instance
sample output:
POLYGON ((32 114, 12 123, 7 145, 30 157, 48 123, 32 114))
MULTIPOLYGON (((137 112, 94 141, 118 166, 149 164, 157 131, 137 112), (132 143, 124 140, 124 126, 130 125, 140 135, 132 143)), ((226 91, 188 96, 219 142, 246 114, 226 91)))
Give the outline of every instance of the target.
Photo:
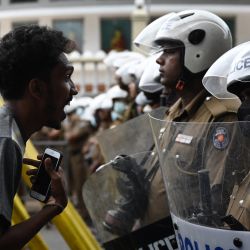
MULTIPOLYGON (((151 50, 162 51, 167 41, 178 41, 184 45, 184 67, 194 74, 207 70, 232 47, 227 24, 215 14, 203 10, 168 14, 166 21, 158 27, 151 44, 149 40, 147 43, 151 50)), ((138 39, 135 42, 144 43, 138 39)))

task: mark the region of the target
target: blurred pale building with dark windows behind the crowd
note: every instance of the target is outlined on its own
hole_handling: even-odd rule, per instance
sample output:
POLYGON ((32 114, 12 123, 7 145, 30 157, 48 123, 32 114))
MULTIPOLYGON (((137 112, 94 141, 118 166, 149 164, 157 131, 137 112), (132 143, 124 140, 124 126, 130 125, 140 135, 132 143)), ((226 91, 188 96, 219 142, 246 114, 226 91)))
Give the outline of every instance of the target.
MULTIPOLYGON (((230 26, 234 45, 250 40, 248 0, 1 0, 0 36, 22 24, 47 25, 62 30, 77 42, 80 53, 91 57, 100 50, 107 53, 112 49, 133 49, 133 38, 143 25, 161 15, 185 9, 218 14, 230 26), (140 8, 143 3, 144 8, 140 8)), ((95 71, 97 65, 92 68, 95 71)), ((100 82, 96 75, 93 81, 100 82)), ((107 76, 101 82, 107 85, 108 81, 107 76)), ((93 84, 85 79, 87 82, 93 84)), ((96 92, 97 88, 94 89, 96 92)))

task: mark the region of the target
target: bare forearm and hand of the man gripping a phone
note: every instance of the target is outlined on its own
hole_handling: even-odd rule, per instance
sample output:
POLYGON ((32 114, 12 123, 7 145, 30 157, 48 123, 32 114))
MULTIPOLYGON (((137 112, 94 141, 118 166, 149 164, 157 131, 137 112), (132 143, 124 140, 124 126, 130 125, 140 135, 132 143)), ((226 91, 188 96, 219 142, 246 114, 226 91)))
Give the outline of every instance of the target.
MULTIPOLYGON (((37 166, 37 161, 26 159, 26 164, 37 166)), ((46 159, 45 167, 51 177, 52 196, 42 210, 17 225, 10 227, 7 231, 0 235, 0 249, 21 249, 27 244, 35 234, 48 223, 53 217, 60 214, 67 205, 67 196, 63 183, 63 171, 55 171, 52 168, 51 160, 46 159)), ((34 181, 34 174, 37 170, 29 170, 31 181, 34 181)))

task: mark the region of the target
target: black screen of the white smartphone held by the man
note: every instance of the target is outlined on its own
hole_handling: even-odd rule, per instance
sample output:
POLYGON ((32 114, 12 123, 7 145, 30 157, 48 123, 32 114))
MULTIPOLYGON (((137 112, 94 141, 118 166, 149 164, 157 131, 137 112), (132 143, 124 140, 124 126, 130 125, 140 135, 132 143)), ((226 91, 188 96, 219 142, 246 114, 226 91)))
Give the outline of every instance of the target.
POLYGON ((39 168, 38 174, 36 176, 36 181, 32 186, 32 190, 36 191, 39 194, 42 194, 44 196, 47 195, 48 192, 48 186, 50 184, 50 176, 47 174, 44 166, 44 161, 47 158, 51 158, 52 164, 55 167, 58 163, 58 158, 55 158, 51 155, 44 154, 42 165, 39 168))

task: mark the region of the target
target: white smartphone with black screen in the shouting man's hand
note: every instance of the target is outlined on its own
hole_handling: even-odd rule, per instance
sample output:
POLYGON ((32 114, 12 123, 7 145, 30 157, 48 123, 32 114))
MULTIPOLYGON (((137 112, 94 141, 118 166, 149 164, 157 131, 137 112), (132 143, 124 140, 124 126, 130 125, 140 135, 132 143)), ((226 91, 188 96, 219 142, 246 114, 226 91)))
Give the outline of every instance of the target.
POLYGON ((62 153, 57 150, 54 150, 52 148, 45 149, 40 166, 38 168, 36 180, 30 189, 31 197, 41 202, 45 202, 49 198, 51 193, 51 188, 50 188, 51 178, 45 170, 44 161, 47 158, 50 158, 53 164, 53 168, 57 171, 62 161, 62 157, 63 157, 62 153))

